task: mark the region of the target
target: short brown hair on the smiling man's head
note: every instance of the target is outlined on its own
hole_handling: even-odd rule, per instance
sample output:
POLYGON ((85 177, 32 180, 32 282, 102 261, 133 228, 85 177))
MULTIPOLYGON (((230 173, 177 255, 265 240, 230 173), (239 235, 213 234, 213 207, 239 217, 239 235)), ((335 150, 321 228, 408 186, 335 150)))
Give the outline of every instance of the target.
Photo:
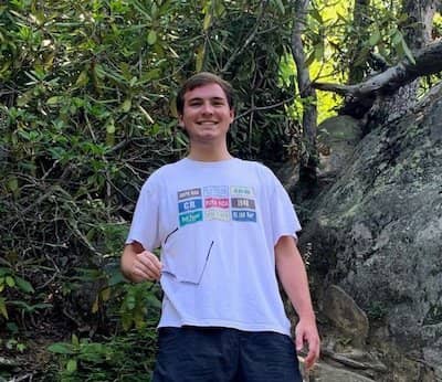
POLYGON ((187 92, 193 91, 197 87, 209 84, 218 84, 221 86, 222 91, 225 94, 225 98, 228 99, 229 107, 230 109, 232 109, 234 104, 234 92, 232 85, 230 85, 227 81, 222 79, 213 73, 201 72, 193 74, 191 77, 189 77, 179 89, 177 94, 178 115, 182 115, 182 112, 185 109, 185 94, 187 92))

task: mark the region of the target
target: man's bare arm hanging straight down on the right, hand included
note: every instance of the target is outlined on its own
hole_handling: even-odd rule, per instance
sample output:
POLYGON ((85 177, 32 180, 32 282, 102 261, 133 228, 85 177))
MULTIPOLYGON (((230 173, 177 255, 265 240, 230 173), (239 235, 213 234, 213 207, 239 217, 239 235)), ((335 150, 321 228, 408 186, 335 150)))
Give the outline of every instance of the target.
POLYGON ((308 370, 319 358, 320 341, 308 289, 307 273, 292 236, 280 237, 275 245, 275 256, 277 275, 299 317, 295 329, 296 350, 302 350, 304 342, 308 344, 308 354, 305 358, 305 367, 308 370))

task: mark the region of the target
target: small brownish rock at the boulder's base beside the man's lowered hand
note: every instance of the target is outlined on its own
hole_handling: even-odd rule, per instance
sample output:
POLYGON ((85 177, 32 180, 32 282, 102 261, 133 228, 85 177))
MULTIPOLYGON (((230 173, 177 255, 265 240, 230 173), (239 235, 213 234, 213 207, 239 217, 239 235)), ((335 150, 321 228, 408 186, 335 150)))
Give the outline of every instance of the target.
POLYGON ((349 338, 355 347, 364 347, 368 336, 368 318, 341 288, 332 285, 323 298, 323 314, 333 325, 349 338))

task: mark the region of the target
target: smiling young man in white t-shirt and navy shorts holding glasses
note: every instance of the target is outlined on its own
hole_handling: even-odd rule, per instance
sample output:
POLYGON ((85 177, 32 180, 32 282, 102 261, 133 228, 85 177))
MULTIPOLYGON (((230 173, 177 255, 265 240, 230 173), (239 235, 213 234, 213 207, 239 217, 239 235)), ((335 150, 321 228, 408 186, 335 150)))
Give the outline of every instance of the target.
POLYGON ((229 153, 229 83, 193 75, 177 110, 189 156, 144 184, 122 257, 127 278, 165 293, 154 381, 302 381, 296 350, 307 344, 309 369, 319 337, 290 198, 266 167, 229 153), (276 274, 299 317, 296 349, 276 274))

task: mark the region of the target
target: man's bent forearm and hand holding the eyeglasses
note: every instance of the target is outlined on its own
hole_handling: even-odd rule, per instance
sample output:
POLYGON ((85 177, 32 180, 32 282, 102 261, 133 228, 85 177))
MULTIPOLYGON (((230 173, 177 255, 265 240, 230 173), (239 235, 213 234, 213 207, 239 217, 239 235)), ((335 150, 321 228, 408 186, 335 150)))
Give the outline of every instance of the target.
POLYGON ((125 277, 134 283, 158 280, 161 276, 161 262, 138 242, 126 244, 120 266, 125 277))

